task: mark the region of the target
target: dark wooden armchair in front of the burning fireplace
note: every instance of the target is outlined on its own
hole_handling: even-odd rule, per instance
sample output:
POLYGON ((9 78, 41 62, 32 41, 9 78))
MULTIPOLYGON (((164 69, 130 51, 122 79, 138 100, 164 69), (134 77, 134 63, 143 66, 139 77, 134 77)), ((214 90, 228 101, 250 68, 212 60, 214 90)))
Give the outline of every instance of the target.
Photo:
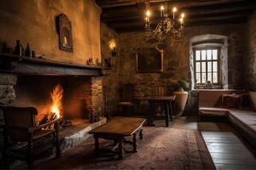
POLYGON ((61 156, 58 120, 37 126, 36 108, 2 106, 0 109, 3 110, 3 161, 6 167, 9 167, 9 158, 13 158, 26 161, 32 168, 34 160, 54 146, 56 156, 61 156))

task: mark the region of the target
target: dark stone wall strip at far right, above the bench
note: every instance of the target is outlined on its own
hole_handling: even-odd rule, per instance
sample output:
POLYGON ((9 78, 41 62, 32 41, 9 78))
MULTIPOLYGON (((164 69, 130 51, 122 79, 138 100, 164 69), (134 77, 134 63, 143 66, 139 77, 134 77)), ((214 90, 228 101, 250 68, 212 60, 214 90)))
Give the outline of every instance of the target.
POLYGON ((256 10, 247 23, 247 54, 244 65, 245 87, 256 91, 256 10))

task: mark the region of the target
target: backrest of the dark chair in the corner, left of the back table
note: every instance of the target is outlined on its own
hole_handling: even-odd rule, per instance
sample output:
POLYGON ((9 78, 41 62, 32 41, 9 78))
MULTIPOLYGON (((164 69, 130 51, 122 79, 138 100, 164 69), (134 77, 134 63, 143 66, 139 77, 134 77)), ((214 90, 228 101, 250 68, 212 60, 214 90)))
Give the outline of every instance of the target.
POLYGON ((132 83, 127 83, 120 90, 120 99, 121 101, 131 102, 134 99, 135 87, 132 83))

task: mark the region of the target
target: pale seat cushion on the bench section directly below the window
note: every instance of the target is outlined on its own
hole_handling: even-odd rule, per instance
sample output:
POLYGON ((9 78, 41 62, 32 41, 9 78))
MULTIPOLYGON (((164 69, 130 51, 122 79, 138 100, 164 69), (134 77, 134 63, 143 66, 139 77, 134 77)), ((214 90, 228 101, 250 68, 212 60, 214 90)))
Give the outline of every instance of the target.
POLYGON ((199 114, 201 116, 226 116, 228 113, 227 109, 219 107, 200 107, 199 114))

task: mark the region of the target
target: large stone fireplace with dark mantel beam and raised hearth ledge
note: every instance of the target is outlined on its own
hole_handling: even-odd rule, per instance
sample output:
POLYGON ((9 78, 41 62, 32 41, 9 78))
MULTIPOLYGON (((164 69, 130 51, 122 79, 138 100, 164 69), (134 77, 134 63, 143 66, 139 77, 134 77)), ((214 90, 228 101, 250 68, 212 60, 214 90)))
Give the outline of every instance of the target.
MULTIPOLYGON (((9 54, 0 56, 0 105, 33 106, 38 110, 36 122, 40 122, 45 114, 49 114, 47 111, 52 105, 51 94, 55 87, 60 86, 63 90, 61 120, 68 120, 73 126, 61 130, 61 151, 81 143, 89 137, 90 129, 106 122, 105 118, 95 123, 88 120, 90 112, 103 116, 100 67, 9 54)), ((0 123, 3 125, 2 111, 0 123)))

